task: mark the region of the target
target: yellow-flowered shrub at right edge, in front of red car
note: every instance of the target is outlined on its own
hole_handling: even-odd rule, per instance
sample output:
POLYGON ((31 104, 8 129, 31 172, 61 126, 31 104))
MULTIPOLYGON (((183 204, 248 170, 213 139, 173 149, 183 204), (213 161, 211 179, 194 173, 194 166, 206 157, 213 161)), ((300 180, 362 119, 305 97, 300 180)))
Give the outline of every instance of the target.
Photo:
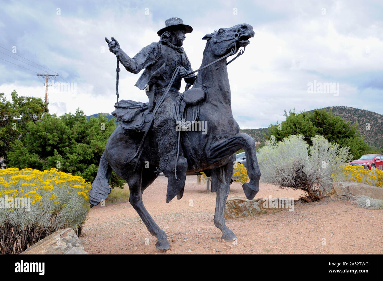
POLYGON ((383 171, 379 169, 365 169, 362 165, 345 165, 332 175, 334 181, 361 182, 370 186, 383 187, 383 171))

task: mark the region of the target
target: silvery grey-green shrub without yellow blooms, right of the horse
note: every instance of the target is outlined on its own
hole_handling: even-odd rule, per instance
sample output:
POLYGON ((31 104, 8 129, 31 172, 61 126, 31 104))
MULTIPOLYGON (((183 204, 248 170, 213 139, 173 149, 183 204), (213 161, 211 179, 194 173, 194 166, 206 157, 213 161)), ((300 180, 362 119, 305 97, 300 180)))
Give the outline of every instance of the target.
POLYGON ((290 135, 282 141, 274 136, 262 147, 258 156, 261 180, 292 189, 301 189, 308 196, 304 200, 321 198, 320 187, 329 187, 332 174, 352 156, 348 147, 339 148, 323 136, 311 138, 312 146, 303 135, 290 135))

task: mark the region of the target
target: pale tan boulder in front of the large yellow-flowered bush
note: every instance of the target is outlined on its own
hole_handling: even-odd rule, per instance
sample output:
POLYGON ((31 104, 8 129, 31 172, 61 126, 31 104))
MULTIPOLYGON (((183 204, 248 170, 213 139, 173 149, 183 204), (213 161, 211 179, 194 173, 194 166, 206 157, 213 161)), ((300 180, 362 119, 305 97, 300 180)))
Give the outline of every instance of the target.
POLYGON ((20 255, 87 255, 72 228, 57 230, 20 255))

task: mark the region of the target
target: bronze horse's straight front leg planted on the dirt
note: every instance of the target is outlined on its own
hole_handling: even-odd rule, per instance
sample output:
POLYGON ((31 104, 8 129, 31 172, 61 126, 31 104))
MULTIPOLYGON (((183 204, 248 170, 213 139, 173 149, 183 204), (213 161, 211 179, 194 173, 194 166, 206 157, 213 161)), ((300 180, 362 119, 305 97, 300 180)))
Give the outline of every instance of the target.
POLYGON ((229 195, 230 180, 233 174, 234 156, 228 164, 221 168, 211 170, 211 191, 217 191, 216 210, 214 213, 214 225, 222 231, 221 239, 225 241, 237 240, 236 235, 225 224, 225 205, 229 195))

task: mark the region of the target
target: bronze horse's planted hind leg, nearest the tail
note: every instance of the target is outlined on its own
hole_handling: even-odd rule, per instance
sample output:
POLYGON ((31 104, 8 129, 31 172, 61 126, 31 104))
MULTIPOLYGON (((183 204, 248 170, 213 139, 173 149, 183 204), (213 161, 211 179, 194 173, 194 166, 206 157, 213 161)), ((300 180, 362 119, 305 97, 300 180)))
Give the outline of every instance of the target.
MULTIPOLYGON (((144 170, 146 170, 144 168, 144 170)), ((149 170, 149 169, 148 169, 149 170)), ((147 212, 144 203, 142 202, 142 192, 141 189, 145 189, 152 181, 157 177, 155 173, 149 173, 150 171, 146 171, 142 173, 142 169, 136 169, 136 173, 129 174, 126 179, 129 185, 130 197, 129 202, 133 206, 134 210, 141 217, 142 222, 146 225, 147 230, 149 230, 150 234, 157 237, 157 243, 155 243, 155 248, 166 250, 170 248, 169 242, 167 240, 167 235, 159 228, 157 223, 154 222, 152 217, 147 212), (142 179, 142 176, 145 179, 142 179), (144 187, 141 186, 141 183, 144 182, 144 187)))

